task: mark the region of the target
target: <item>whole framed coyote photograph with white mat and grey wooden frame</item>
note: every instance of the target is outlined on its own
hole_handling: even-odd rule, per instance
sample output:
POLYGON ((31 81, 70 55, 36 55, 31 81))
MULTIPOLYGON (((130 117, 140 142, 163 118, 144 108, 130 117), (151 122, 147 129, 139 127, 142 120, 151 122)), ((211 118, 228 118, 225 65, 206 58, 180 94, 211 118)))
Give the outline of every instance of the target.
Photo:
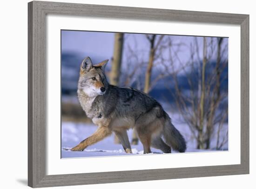
POLYGON ((249 15, 28 3, 30 187, 235 174, 249 15))

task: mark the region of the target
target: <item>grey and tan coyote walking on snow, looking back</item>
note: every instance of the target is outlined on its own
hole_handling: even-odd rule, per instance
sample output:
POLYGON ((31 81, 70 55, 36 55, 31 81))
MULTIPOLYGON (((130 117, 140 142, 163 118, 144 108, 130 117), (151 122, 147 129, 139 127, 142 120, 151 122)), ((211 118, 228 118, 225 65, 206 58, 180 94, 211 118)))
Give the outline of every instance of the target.
POLYGON ((78 99, 86 115, 98 128, 71 151, 83 151, 115 132, 124 151, 132 153, 127 130, 135 128, 144 154, 151 153, 150 146, 164 153, 171 153, 171 147, 184 152, 186 142, 162 106, 139 90, 110 85, 104 75, 107 62, 104 60, 93 65, 91 59, 86 57, 81 63, 78 99))

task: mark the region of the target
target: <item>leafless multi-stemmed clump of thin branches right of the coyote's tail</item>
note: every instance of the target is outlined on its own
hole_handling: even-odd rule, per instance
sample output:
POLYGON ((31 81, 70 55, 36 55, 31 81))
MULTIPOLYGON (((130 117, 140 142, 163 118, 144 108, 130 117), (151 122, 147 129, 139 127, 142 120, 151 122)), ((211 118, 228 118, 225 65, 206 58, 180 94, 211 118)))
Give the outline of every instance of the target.
POLYGON ((227 105, 223 105, 228 94, 221 91, 221 83, 227 77, 223 71, 227 68, 228 63, 227 57, 224 56, 227 48, 223 48, 222 41, 223 38, 217 38, 215 43, 213 38, 209 38, 209 42, 207 42, 206 38, 203 38, 202 65, 200 61, 195 64, 195 57, 199 57, 198 44, 190 44, 190 60, 185 64, 179 62, 182 73, 189 84, 189 93, 186 93, 179 83, 178 71, 175 71, 174 67, 174 58, 178 59, 178 55, 172 45, 169 47, 169 61, 173 70, 169 74, 173 78, 175 89, 168 89, 175 99, 175 105, 182 120, 187 123, 193 139, 197 141, 198 149, 209 149, 214 134, 216 134, 217 149, 222 148, 228 140, 228 134, 220 135, 228 114, 227 105), (209 62, 213 58, 216 60, 215 68, 212 68, 214 64, 209 62), (199 66, 200 69, 198 69, 199 66), (206 70, 208 71, 206 72, 206 70), (200 86, 198 86, 198 82, 201 84, 200 86))

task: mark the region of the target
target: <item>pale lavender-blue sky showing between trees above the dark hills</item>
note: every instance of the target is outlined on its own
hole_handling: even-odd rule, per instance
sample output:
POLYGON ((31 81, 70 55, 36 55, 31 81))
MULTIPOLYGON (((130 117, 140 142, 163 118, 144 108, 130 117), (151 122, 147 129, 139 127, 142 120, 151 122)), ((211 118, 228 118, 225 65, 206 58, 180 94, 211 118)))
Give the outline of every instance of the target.
MULTIPOLYGON (((94 31, 61 31, 62 37, 62 51, 75 52, 84 57, 89 56, 92 59, 110 59, 114 50, 114 35, 111 32, 94 32, 94 31)), ((182 62, 188 61, 190 58, 189 46, 195 42, 195 37, 192 36, 170 36, 173 43, 182 43, 184 46, 178 52, 179 59, 182 62)), ((148 59, 149 42, 144 34, 125 34, 125 43, 123 49, 123 63, 128 58, 128 46, 130 49, 136 51, 141 59, 148 59)), ((202 49, 202 37, 196 37, 199 48, 202 49)), ((210 39, 208 39, 209 41, 210 39)), ((224 43, 228 43, 228 38, 225 38, 224 43)), ((175 47, 174 47, 175 48, 175 47)), ((167 52, 163 52, 167 53, 167 52)), ((202 59, 202 50, 199 54, 202 59)))

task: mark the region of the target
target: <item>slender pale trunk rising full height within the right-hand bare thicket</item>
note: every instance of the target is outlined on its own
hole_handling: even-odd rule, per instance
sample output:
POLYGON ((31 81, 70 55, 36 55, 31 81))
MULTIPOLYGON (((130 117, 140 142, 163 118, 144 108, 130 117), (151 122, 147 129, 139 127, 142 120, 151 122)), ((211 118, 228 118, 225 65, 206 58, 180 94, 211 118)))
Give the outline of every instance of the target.
POLYGON ((200 98, 200 122, 198 129, 198 141, 197 148, 204 149, 204 134, 203 134, 203 125, 204 125, 204 94, 205 94, 205 66, 207 62, 207 45, 206 38, 203 38, 203 60, 202 60, 202 88, 201 88, 201 98, 200 98))

